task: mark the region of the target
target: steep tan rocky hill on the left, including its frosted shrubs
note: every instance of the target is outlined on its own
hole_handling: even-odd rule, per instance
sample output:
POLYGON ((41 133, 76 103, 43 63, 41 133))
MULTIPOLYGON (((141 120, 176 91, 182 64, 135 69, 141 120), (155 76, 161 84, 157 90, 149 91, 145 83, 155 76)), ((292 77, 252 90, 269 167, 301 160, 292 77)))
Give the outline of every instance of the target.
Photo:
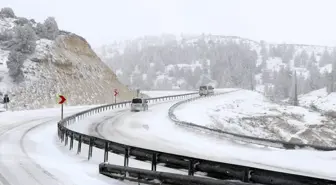
POLYGON ((10 109, 36 109, 57 105, 57 95, 67 105, 112 103, 131 98, 86 40, 58 30, 53 18, 36 23, 0 11, 0 97, 8 94, 10 109))

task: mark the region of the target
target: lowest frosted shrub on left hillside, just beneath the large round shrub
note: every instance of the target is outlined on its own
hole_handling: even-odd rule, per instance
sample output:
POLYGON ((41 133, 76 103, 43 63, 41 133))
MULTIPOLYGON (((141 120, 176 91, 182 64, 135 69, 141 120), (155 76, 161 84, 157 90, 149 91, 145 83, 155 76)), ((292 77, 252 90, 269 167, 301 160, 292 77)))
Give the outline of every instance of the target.
POLYGON ((23 62, 26 60, 26 56, 18 51, 11 51, 8 55, 7 68, 9 75, 16 82, 23 80, 22 66, 23 62))

